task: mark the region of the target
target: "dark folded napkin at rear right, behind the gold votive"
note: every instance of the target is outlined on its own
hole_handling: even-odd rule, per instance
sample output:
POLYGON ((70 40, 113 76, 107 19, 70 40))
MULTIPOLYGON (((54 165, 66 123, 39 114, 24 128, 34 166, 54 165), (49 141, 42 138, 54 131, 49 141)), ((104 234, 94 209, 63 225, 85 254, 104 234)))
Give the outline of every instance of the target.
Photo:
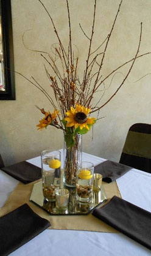
POLYGON ((105 183, 111 183, 115 181, 127 171, 131 170, 132 167, 128 167, 127 165, 122 165, 110 160, 107 160, 97 166, 94 167, 94 173, 100 173, 103 176, 103 181, 105 183))

